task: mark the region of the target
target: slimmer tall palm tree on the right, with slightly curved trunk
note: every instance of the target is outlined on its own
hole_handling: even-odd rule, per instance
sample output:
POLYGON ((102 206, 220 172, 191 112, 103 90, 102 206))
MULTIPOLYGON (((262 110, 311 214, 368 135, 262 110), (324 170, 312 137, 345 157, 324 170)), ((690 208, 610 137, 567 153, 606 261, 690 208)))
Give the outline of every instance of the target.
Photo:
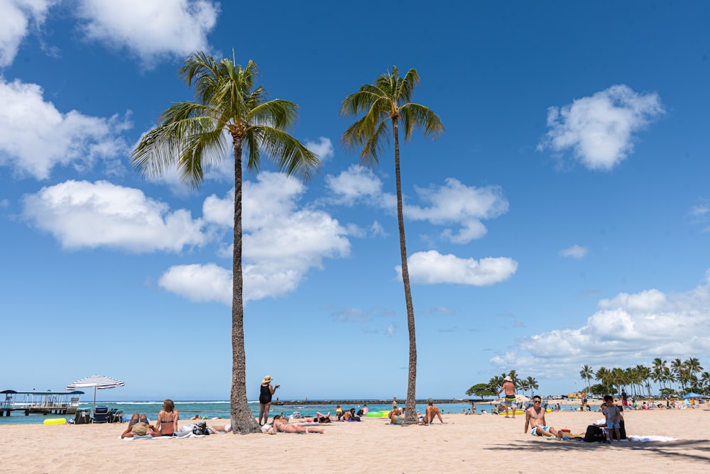
POLYGON ((404 214, 402 202, 402 182, 400 176, 399 154, 399 123, 402 120, 404 138, 412 138, 414 128, 419 128, 425 136, 436 138, 444 132, 444 126, 439 116, 429 108, 414 104, 412 94, 419 83, 417 70, 410 69, 405 77, 400 77, 396 66, 392 72, 386 72, 373 84, 363 84, 358 92, 349 94, 342 103, 342 115, 358 116, 364 114, 347 128, 342 136, 346 148, 354 149, 362 146, 360 153, 361 165, 378 165, 378 155, 383 148, 383 140, 388 138, 388 126, 392 125, 392 136, 395 148, 395 182, 397 187, 397 220, 400 234, 400 258, 402 260, 402 281, 404 297, 407 305, 407 326, 409 329, 409 377, 407 385, 407 411, 405 421, 416 423, 416 385, 417 385, 417 339, 414 324, 414 304, 409 282, 407 265, 407 246, 404 234, 404 214))

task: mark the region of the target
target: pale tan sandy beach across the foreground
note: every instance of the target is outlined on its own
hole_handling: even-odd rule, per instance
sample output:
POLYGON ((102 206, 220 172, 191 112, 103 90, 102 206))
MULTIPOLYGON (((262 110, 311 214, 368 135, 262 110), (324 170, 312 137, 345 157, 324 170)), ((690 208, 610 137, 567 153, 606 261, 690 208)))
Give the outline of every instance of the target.
MULTIPOLYGON (((119 439, 126 424, 0 426, 4 473, 697 473, 710 465, 710 412, 625 412, 630 436, 670 442, 611 445, 523 434, 525 418, 446 414, 446 424, 392 426, 386 419, 322 425, 325 434, 217 434, 204 438, 119 439), (611 468, 613 467, 613 468, 611 468)), ((596 412, 555 412, 547 423, 584 432, 596 412)), ((209 420, 208 424, 223 421, 209 420)), ((189 423, 189 421, 182 421, 189 423)))

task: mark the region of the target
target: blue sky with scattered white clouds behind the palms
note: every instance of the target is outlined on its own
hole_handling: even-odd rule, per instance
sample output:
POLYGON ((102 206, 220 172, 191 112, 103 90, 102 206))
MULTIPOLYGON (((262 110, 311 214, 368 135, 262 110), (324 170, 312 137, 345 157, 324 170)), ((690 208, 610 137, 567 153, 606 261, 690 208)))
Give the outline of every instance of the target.
POLYGON ((405 397, 393 150, 340 145, 347 94, 397 65, 442 119, 401 148, 418 397, 517 370, 710 353, 710 35, 702 1, 0 1, 2 389, 126 382, 104 399, 228 399, 226 157, 190 192, 133 146, 205 50, 254 60, 305 186, 244 183, 248 395, 405 397))

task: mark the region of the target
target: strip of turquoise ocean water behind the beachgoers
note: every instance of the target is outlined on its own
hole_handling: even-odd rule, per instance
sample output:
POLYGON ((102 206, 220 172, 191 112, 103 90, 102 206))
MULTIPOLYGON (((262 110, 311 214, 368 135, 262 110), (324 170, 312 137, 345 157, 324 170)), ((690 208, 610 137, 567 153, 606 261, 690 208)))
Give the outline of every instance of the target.
MULTIPOLYGON (((148 415, 148 419, 155 420, 158 417, 158 412, 163 408, 163 401, 160 402, 97 402, 97 405, 108 406, 109 409, 119 409, 123 410, 124 417, 131 417, 133 413, 140 413, 148 415)), ((439 403, 437 404, 444 414, 447 413, 461 413, 461 411, 466 411, 471 408, 470 403, 439 403)), ((92 403, 82 403, 80 404, 80 409, 92 409, 92 403)), ((254 417, 259 414, 259 404, 258 402, 249 402, 249 407, 254 417)), ((361 404, 355 404, 351 406, 344 406, 343 409, 355 408, 356 410, 362 407, 361 404)), ((577 405, 574 405, 577 407, 577 405)), ((562 407, 565 410, 574 407, 562 407)), ((368 404, 368 408, 371 412, 377 412, 381 410, 391 409, 391 404, 368 404)), ((476 403, 477 411, 480 413, 481 410, 486 410, 486 413, 491 413, 493 405, 485 403, 476 403)), ((591 406, 592 411, 596 411, 599 408, 597 406, 591 406)), ((200 402, 200 401, 184 401, 175 402, 175 409, 180 412, 180 419, 186 420, 194 417, 195 415, 204 417, 206 419, 213 418, 224 418, 229 419, 229 402, 217 401, 217 402, 200 402)), ((417 404, 417 410, 422 413, 425 411, 425 404, 417 404)), ((315 417, 316 412, 335 414, 334 404, 307 404, 307 405, 271 405, 271 412, 269 415, 273 417, 275 414, 284 414, 288 417, 294 412, 299 412, 302 417, 315 417)), ((66 418, 73 419, 74 415, 57 415, 57 414, 31 414, 27 417, 24 412, 13 412, 10 417, 0 417, 0 425, 2 424, 41 424, 47 418, 66 418)))

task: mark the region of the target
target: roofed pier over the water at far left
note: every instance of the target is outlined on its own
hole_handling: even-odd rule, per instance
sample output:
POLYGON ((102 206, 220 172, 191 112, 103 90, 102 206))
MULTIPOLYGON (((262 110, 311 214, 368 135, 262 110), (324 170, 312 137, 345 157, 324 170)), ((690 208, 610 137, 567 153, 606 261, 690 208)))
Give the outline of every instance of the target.
POLYGON ((26 417, 31 413, 76 414, 81 395, 84 395, 84 392, 80 390, 73 392, 3 390, 0 392, 0 417, 9 417, 12 412, 24 412, 26 417))

